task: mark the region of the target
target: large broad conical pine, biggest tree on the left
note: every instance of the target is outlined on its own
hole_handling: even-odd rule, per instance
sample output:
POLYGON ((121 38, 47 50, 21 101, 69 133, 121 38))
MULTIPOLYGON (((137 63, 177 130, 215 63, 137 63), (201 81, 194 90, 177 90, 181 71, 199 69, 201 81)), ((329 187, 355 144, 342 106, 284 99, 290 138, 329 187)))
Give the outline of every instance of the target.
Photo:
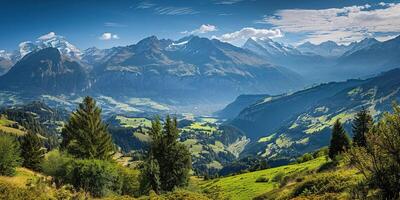
POLYGON ((61 147, 78 158, 110 159, 114 144, 96 101, 85 97, 62 131, 61 147))

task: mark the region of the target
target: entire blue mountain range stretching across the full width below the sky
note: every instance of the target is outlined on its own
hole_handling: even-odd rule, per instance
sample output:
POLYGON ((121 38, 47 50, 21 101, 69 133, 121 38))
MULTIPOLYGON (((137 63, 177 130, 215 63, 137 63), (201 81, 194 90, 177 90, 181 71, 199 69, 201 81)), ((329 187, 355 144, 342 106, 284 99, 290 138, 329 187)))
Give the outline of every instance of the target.
POLYGON ((175 41, 151 36, 128 46, 80 50, 50 32, 22 42, 12 53, 0 51, 0 90, 25 96, 89 94, 123 104, 148 98, 178 110, 208 106, 215 111, 244 93, 275 96, 374 76, 398 67, 399 48, 400 37, 297 47, 249 38, 236 47, 198 36, 175 41))

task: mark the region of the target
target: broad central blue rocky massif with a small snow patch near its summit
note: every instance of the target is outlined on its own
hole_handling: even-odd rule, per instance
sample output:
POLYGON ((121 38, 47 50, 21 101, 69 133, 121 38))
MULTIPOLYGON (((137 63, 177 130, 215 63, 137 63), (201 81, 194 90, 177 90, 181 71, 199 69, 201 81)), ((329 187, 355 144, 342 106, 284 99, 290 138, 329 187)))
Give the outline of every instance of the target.
POLYGON ((281 93, 299 84, 302 79, 296 73, 228 43, 196 36, 179 41, 153 36, 119 49, 100 65, 95 87, 109 95, 132 93, 192 102, 227 101, 249 91, 281 93), (115 87, 109 87, 111 82, 115 87))

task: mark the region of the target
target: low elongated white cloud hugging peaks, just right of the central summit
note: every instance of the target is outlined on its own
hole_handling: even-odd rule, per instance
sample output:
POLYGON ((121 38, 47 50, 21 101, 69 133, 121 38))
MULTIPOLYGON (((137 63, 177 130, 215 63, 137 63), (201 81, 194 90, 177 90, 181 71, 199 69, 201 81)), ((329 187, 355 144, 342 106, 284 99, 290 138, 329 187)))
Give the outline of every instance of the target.
POLYGON ((278 38, 278 37, 283 37, 283 33, 279 29, 256 29, 252 27, 245 27, 239 31, 226 33, 219 37, 213 36, 213 38, 237 45, 244 43, 250 37, 261 38, 261 39, 278 38))

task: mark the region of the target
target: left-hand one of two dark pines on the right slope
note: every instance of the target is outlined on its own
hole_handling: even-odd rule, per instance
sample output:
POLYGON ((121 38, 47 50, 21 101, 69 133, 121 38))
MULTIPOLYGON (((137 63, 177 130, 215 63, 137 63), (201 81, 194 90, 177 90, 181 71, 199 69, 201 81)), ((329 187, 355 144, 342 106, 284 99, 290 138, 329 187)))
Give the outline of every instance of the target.
POLYGON ((350 147, 350 139, 343 129, 340 120, 336 120, 332 128, 332 138, 329 146, 329 158, 335 159, 337 155, 350 147))

